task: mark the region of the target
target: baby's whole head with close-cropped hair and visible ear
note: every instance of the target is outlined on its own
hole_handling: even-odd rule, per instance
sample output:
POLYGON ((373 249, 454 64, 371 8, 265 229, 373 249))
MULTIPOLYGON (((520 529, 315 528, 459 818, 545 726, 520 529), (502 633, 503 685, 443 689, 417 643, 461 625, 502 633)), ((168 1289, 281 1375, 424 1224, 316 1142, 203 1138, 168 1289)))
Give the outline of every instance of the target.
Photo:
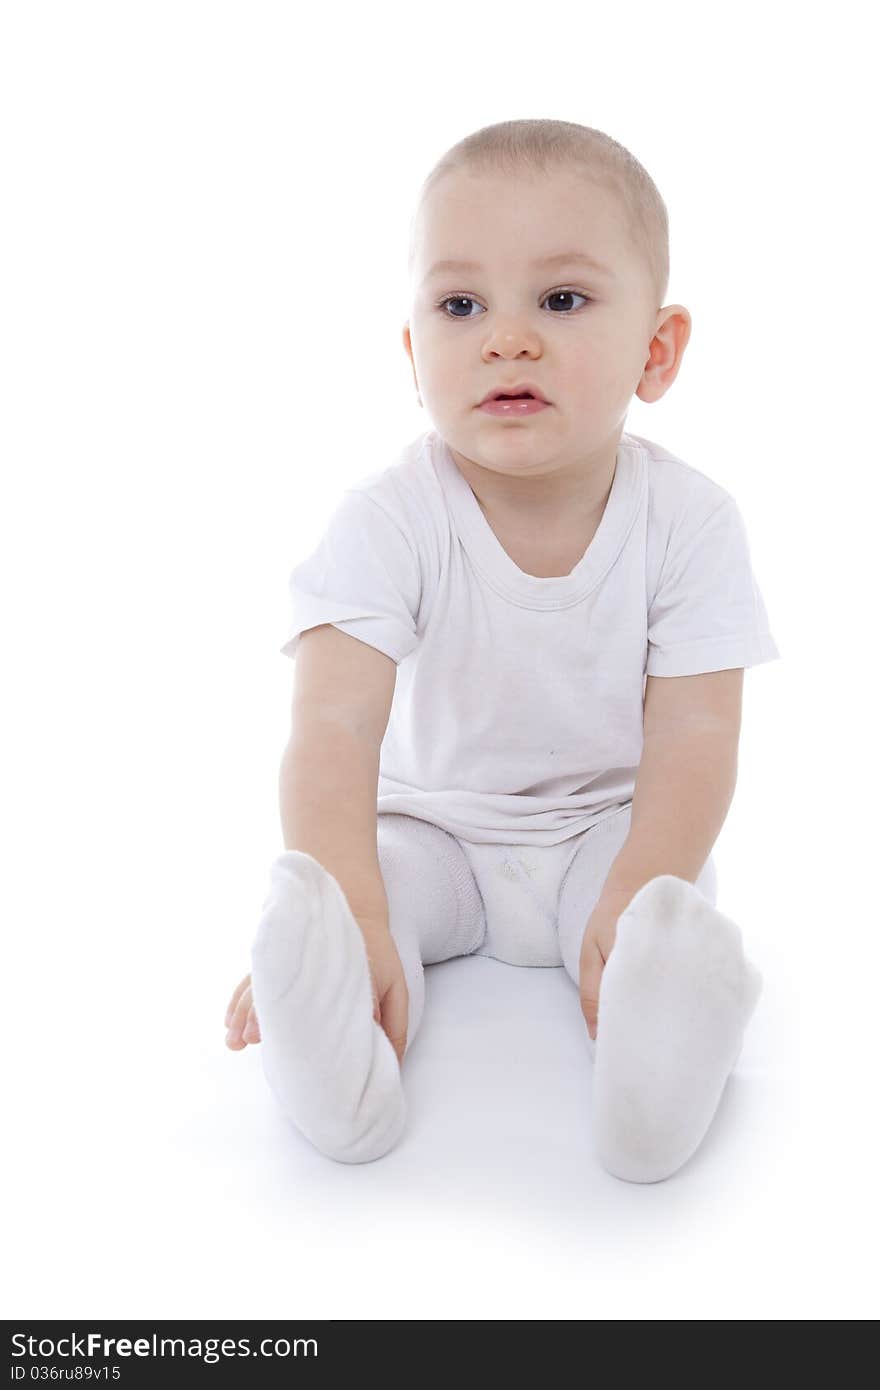
POLYGON ((663 307, 655 183, 570 121, 503 121, 455 145, 421 186, 409 277, 403 345, 423 404, 453 452, 512 475, 613 455, 633 395, 659 400, 691 332, 687 309, 663 307), (549 409, 478 409, 519 382, 549 409))

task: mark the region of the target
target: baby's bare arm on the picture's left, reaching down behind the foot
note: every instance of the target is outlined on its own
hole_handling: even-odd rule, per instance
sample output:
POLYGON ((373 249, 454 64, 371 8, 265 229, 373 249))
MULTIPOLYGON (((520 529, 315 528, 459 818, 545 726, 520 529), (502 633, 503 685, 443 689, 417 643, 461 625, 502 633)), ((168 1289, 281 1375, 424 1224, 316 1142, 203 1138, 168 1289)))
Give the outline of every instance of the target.
MULTIPOLYGON (((285 849, 311 855, 336 878, 370 935, 380 990, 396 963, 396 952, 384 951, 386 938, 393 942, 377 849, 378 760, 395 681, 396 666, 382 652, 329 624, 307 628, 279 773, 285 849)), ((249 974, 232 994, 227 1029, 232 1051, 260 1040, 249 974)))

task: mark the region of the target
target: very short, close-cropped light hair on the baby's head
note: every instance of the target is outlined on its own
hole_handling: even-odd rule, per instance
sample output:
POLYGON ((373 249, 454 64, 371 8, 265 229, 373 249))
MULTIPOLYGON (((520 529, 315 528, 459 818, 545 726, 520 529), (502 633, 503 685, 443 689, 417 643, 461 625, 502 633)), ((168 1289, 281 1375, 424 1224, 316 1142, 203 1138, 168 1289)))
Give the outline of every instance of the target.
POLYGON ((608 188, 624 210, 630 238, 644 257, 656 309, 669 288, 669 214, 648 171, 603 131, 576 121, 499 121, 466 135, 437 161, 418 190, 410 222, 409 274, 413 272, 414 229, 427 195, 456 170, 477 174, 545 174, 580 170, 608 188))

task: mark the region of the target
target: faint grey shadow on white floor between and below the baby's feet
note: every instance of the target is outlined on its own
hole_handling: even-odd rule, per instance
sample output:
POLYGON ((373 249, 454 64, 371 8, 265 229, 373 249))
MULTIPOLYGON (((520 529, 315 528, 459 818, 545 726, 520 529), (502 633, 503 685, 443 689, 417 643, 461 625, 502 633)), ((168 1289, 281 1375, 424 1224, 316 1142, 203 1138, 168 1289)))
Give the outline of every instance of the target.
POLYGON ((318 1155, 275 1113, 250 1048, 228 1059, 227 1081, 236 1094, 249 1087, 261 1147, 236 1147, 236 1156, 263 1163, 282 1200, 310 1180, 335 1201, 380 1204, 386 1194, 398 1209, 494 1212, 566 1234, 582 1219, 595 1238, 603 1225, 619 1232, 621 1211, 660 1205, 684 1218, 699 1212, 703 1191, 716 1201, 727 1187, 731 1198, 742 1190, 744 1172, 759 1162, 753 1140, 765 1113, 749 1041, 696 1154, 662 1184, 623 1183, 592 1152, 592 1063, 564 970, 448 960, 427 969, 425 1015, 403 1065, 407 1127, 395 1150, 366 1165, 318 1155))

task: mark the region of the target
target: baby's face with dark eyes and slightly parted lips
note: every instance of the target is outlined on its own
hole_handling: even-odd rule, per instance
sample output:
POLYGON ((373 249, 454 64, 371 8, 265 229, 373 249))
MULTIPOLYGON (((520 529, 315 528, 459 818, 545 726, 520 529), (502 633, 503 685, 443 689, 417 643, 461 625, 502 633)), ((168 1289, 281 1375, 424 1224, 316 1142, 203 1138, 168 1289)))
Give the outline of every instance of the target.
POLYGON ((403 345, 453 450, 496 473, 535 475, 592 459, 612 438, 616 448, 669 310, 653 303, 613 193, 573 172, 448 175, 423 204, 410 289, 403 345), (563 252, 602 268, 574 256, 541 264, 563 252), (474 265, 437 268, 452 259, 474 265), (549 409, 478 409, 487 392, 523 381, 549 409))

